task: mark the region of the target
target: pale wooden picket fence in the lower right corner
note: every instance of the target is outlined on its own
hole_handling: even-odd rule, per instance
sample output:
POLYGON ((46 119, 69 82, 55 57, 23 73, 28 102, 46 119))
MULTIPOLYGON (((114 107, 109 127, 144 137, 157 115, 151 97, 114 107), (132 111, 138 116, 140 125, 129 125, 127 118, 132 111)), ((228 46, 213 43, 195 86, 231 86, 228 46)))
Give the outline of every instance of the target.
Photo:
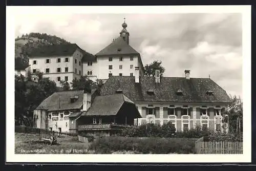
MULTIPOLYGON (((202 137, 203 138, 203 137, 202 137)), ((196 141, 197 154, 243 154, 242 141, 196 141)))

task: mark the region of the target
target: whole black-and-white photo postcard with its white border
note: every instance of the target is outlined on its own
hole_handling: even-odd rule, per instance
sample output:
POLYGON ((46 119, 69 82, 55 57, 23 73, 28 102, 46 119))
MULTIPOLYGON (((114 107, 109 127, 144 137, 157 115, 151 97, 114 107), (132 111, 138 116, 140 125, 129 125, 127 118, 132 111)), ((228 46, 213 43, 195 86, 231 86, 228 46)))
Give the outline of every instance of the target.
POLYGON ((250 162, 250 6, 7 17, 10 161, 250 162))

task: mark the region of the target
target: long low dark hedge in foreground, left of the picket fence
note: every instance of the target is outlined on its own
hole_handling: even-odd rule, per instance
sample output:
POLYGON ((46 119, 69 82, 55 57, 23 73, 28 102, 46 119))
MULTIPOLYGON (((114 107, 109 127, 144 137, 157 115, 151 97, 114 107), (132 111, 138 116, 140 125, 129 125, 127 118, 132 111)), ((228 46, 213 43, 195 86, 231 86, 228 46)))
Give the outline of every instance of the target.
POLYGON ((91 143, 90 149, 98 154, 133 151, 141 154, 194 153, 195 142, 176 138, 103 137, 91 143))

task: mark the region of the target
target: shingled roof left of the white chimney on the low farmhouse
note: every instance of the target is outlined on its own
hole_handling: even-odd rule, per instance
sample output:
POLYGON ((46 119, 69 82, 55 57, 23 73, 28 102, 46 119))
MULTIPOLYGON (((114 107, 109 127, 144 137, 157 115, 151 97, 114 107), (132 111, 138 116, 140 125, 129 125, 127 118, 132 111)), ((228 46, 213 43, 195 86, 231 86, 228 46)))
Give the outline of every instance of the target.
POLYGON ((72 90, 55 92, 37 106, 36 109, 45 109, 48 111, 73 110, 80 109, 83 102, 83 90, 72 90), (78 96, 77 101, 71 103, 70 98, 78 96))

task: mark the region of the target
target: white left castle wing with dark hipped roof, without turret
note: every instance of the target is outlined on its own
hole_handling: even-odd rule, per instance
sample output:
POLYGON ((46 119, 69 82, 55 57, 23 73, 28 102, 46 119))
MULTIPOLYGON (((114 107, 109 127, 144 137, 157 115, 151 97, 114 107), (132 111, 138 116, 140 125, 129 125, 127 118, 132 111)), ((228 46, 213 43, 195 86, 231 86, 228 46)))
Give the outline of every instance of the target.
POLYGON ((40 71, 43 77, 49 77, 61 87, 61 81, 70 83, 73 79, 80 78, 83 73, 83 57, 94 59, 93 55, 76 44, 44 46, 34 49, 29 55, 30 71, 34 81, 36 71, 40 71))

